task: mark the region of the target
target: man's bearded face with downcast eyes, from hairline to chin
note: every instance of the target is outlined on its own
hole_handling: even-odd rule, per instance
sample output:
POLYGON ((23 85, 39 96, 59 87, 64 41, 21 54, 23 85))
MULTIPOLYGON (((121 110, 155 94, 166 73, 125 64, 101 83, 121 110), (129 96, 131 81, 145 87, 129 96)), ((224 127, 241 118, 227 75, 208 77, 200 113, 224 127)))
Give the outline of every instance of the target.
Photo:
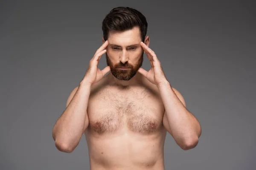
POLYGON ((106 60, 116 79, 128 81, 142 66, 143 48, 140 42, 140 29, 138 27, 109 34, 106 60), (128 68, 122 69, 120 67, 128 68))

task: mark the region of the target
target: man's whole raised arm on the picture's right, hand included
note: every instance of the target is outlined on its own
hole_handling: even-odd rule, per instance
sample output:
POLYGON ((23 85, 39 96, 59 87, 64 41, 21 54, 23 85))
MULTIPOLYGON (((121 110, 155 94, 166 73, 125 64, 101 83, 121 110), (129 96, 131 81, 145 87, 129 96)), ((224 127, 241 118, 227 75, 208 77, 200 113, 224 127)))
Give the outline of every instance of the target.
POLYGON ((144 42, 141 42, 141 46, 145 54, 147 54, 151 68, 149 71, 139 68, 138 72, 143 74, 149 82, 156 85, 160 91, 165 107, 163 115, 164 127, 183 150, 194 148, 198 144, 198 139, 201 135, 201 125, 195 116, 186 109, 185 101, 181 94, 172 88, 166 79, 162 65, 154 51, 144 42))

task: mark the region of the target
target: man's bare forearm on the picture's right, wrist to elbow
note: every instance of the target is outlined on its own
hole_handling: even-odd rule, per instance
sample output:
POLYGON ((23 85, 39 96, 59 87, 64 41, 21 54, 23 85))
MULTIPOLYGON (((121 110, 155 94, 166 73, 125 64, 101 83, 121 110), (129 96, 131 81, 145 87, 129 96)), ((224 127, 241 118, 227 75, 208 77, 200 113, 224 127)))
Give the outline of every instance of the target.
POLYGON ((180 145, 196 142, 201 133, 198 120, 186 109, 169 82, 162 83, 158 88, 175 141, 180 145))

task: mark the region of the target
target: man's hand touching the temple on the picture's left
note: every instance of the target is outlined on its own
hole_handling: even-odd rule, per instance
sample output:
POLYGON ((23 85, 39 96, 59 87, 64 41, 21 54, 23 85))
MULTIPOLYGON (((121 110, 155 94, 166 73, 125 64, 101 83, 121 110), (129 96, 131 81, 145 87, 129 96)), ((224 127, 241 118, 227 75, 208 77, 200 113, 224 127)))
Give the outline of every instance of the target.
POLYGON ((106 53, 106 47, 108 46, 108 40, 105 41, 102 46, 96 51, 93 58, 90 60, 89 67, 85 73, 82 82, 90 83, 90 85, 99 82, 105 74, 110 71, 110 66, 105 67, 102 71, 98 68, 99 60, 102 54, 106 53))

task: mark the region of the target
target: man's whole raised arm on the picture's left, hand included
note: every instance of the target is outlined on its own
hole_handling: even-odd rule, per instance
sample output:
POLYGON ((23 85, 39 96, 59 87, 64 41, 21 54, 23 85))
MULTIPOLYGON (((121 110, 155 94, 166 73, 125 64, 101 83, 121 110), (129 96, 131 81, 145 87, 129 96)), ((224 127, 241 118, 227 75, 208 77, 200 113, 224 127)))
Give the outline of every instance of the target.
POLYGON ((58 150, 71 153, 79 144, 84 130, 88 127, 87 104, 90 96, 90 88, 94 83, 99 82, 110 67, 102 71, 98 68, 99 60, 106 53, 108 41, 96 51, 90 60, 89 67, 81 80, 67 99, 66 109, 55 123, 52 130, 52 137, 58 150))

